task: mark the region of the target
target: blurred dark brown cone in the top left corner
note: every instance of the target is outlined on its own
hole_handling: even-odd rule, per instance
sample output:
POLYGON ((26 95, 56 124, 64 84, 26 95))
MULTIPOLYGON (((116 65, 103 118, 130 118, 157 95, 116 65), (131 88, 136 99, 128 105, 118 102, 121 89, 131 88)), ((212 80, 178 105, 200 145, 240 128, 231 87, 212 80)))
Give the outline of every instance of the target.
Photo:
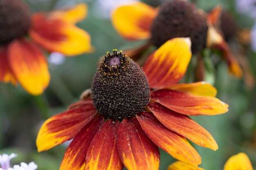
POLYGON ((0 0, 0 45, 26 35, 30 12, 22 0, 0 0))

